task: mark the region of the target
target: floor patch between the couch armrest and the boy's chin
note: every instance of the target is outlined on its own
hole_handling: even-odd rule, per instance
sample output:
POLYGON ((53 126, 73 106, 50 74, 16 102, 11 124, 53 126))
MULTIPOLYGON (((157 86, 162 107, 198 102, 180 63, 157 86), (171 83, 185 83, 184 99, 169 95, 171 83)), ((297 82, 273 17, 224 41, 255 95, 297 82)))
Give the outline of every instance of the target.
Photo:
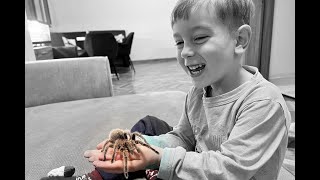
POLYGON ((120 79, 113 76, 114 95, 137 94, 150 91, 180 90, 187 92, 191 81, 175 59, 138 62, 136 73, 118 68, 120 79))

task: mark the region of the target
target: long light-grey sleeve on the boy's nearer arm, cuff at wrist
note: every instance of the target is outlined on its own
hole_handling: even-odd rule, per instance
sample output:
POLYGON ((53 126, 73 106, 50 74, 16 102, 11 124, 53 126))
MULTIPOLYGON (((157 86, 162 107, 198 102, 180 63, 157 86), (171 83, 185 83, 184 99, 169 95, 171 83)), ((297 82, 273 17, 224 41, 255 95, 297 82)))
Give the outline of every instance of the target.
POLYGON ((254 101, 237 114, 236 123, 220 151, 198 153, 187 152, 183 147, 164 148, 158 177, 275 179, 278 171, 274 169, 280 169, 288 134, 281 104, 272 100, 254 101))

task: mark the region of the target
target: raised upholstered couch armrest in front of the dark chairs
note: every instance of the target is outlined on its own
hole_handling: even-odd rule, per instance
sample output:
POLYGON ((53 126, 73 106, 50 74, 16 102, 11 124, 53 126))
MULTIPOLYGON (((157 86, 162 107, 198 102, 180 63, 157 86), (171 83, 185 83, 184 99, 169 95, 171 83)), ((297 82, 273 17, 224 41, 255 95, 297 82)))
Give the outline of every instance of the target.
POLYGON ((112 95, 107 57, 25 62, 25 107, 112 95))

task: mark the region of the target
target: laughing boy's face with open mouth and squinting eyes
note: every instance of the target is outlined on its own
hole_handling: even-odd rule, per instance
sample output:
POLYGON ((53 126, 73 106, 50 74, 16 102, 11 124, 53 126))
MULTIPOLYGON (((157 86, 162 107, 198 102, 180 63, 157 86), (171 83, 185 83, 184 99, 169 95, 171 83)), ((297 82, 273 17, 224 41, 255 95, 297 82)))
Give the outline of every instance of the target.
POLYGON ((172 27, 177 60, 198 88, 225 84, 235 65, 236 41, 227 26, 206 9, 190 13, 172 27))

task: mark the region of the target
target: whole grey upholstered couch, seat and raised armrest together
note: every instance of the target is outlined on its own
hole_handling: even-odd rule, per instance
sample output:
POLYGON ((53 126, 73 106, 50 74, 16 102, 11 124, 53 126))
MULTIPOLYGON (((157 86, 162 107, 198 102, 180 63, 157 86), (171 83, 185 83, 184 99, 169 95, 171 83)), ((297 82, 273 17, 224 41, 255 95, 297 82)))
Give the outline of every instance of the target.
MULTIPOLYGON (((25 63, 25 179, 37 180, 62 165, 75 175, 93 170, 83 157, 111 129, 130 129, 146 115, 178 123, 186 93, 113 96, 106 57, 25 63)), ((284 168, 280 180, 294 176, 284 168)))

